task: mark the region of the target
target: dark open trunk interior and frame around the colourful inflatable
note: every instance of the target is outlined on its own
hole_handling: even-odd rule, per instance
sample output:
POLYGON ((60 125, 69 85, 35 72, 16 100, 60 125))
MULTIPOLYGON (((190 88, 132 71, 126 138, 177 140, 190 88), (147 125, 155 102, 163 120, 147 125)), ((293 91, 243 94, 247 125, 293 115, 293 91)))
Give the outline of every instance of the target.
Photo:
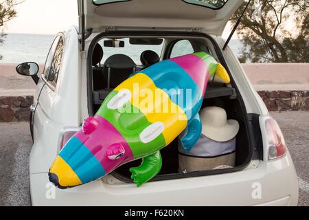
MULTIPOLYGON (((225 60, 220 52, 220 48, 216 41, 207 34, 201 33, 187 33, 187 32, 109 32, 102 33, 95 36, 89 47, 89 63, 92 63, 91 57, 95 45, 101 39, 124 39, 124 38, 160 38, 165 39, 165 49, 176 41, 187 39, 195 45, 195 50, 205 51, 213 55, 217 61, 219 61, 229 72, 229 68, 225 63, 225 60), (198 46, 199 45, 199 46, 198 46)), ((168 51, 163 50, 161 60, 167 59, 168 51)), ((197 52, 195 51, 195 52, 197 52)), ((229 73, 231 76, 231 74, 229 73)), ((93 89, 93 67, 88 65, 88 93, 89 93, 89 115, 94 115, 100 108, 100 104, 104 101, 104 98, 108 96, 111 90, 106 88, 93 89)), ((237 85, 231 77, 231 84, 224 85, 220 83, 209 83, 205 98, 203 100, 203 107, 221 107, 227 111, 227 118, 237 120, 240 124, 240 131, 236 136, 236 162, 233 168, 223 168, 216 170, 198 170, 192 173, 183 172, 179 169, 179 138, 176 138, 169 146, 163 148, 161 151, 163 165, 161 173, 152 181, 159 181, 165 179, 180 179, 187 177, 198 177, 203 175, 217 175, 222 173, 232 173, 243 170, 246 168, 253 157, 253 150, 256 144, 254 142, 254 135, 257 135, 258 131, 254 131, 254 124, 258 123, 258 120, 251 115, 247 114, 246 107, 242 100, 241 94, 238 91, 237 85)), ((141 164, 141 160, 124 164, 117 168, 112 175, 119 180, 125 182, 132 182, 130 179, 131 173, 129 169, 141 164)), ((222 164, 225 165, 225 164, 222 164)))

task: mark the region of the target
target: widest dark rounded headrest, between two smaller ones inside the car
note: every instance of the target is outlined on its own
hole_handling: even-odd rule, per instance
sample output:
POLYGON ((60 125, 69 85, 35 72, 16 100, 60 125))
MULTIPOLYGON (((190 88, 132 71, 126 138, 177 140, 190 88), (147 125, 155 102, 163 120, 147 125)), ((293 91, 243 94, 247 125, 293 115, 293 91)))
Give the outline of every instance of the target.
POLYGON ((130 69, 130 68, 136 68, 136 64, 134 61, 124 55, 124 54, 115 54, 113 56, 110 56, 104 63, 104 66, 107 68, 113 68, 113 69, 130 69))

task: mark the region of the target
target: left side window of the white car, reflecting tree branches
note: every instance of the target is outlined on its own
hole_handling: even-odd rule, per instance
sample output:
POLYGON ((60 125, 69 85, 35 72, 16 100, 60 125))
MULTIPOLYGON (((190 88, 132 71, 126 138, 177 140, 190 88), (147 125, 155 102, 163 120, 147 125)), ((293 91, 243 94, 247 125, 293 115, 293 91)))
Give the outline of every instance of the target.
POLYGON ((47 61, 44 67, 44 78, 47 82, 56 87, 58 75, 60 72, 62 54, 64 47, 63 37, 57 36, 47 56, 47 61))

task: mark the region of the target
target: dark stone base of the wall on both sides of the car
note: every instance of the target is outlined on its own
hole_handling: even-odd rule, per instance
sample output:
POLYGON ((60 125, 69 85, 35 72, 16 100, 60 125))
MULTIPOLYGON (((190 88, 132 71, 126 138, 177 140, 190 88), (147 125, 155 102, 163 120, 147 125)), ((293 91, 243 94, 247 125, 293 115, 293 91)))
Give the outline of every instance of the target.
MULTIPOLYGON (((258 91, 269 111, 309 111, 309 91, 258 91)), ((26 122, 33 96, 0 96, 0 122, 26 122)))

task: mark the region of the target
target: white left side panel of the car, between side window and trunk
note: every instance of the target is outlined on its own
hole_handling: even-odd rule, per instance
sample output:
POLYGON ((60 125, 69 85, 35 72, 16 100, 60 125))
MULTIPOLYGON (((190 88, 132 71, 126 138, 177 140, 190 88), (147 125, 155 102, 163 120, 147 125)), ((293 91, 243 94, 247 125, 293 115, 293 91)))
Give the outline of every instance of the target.
POLYGON ((78 33, 72 27, 64 34, 65 53, 56 89, 45 85, 45 80, 40 80, 36 87, 35 100, 38 94, 40 98, 34 114, 35 141, 30 155, 30 173, 45 173, 58 154, 60 130, 81 123, 78 33))

